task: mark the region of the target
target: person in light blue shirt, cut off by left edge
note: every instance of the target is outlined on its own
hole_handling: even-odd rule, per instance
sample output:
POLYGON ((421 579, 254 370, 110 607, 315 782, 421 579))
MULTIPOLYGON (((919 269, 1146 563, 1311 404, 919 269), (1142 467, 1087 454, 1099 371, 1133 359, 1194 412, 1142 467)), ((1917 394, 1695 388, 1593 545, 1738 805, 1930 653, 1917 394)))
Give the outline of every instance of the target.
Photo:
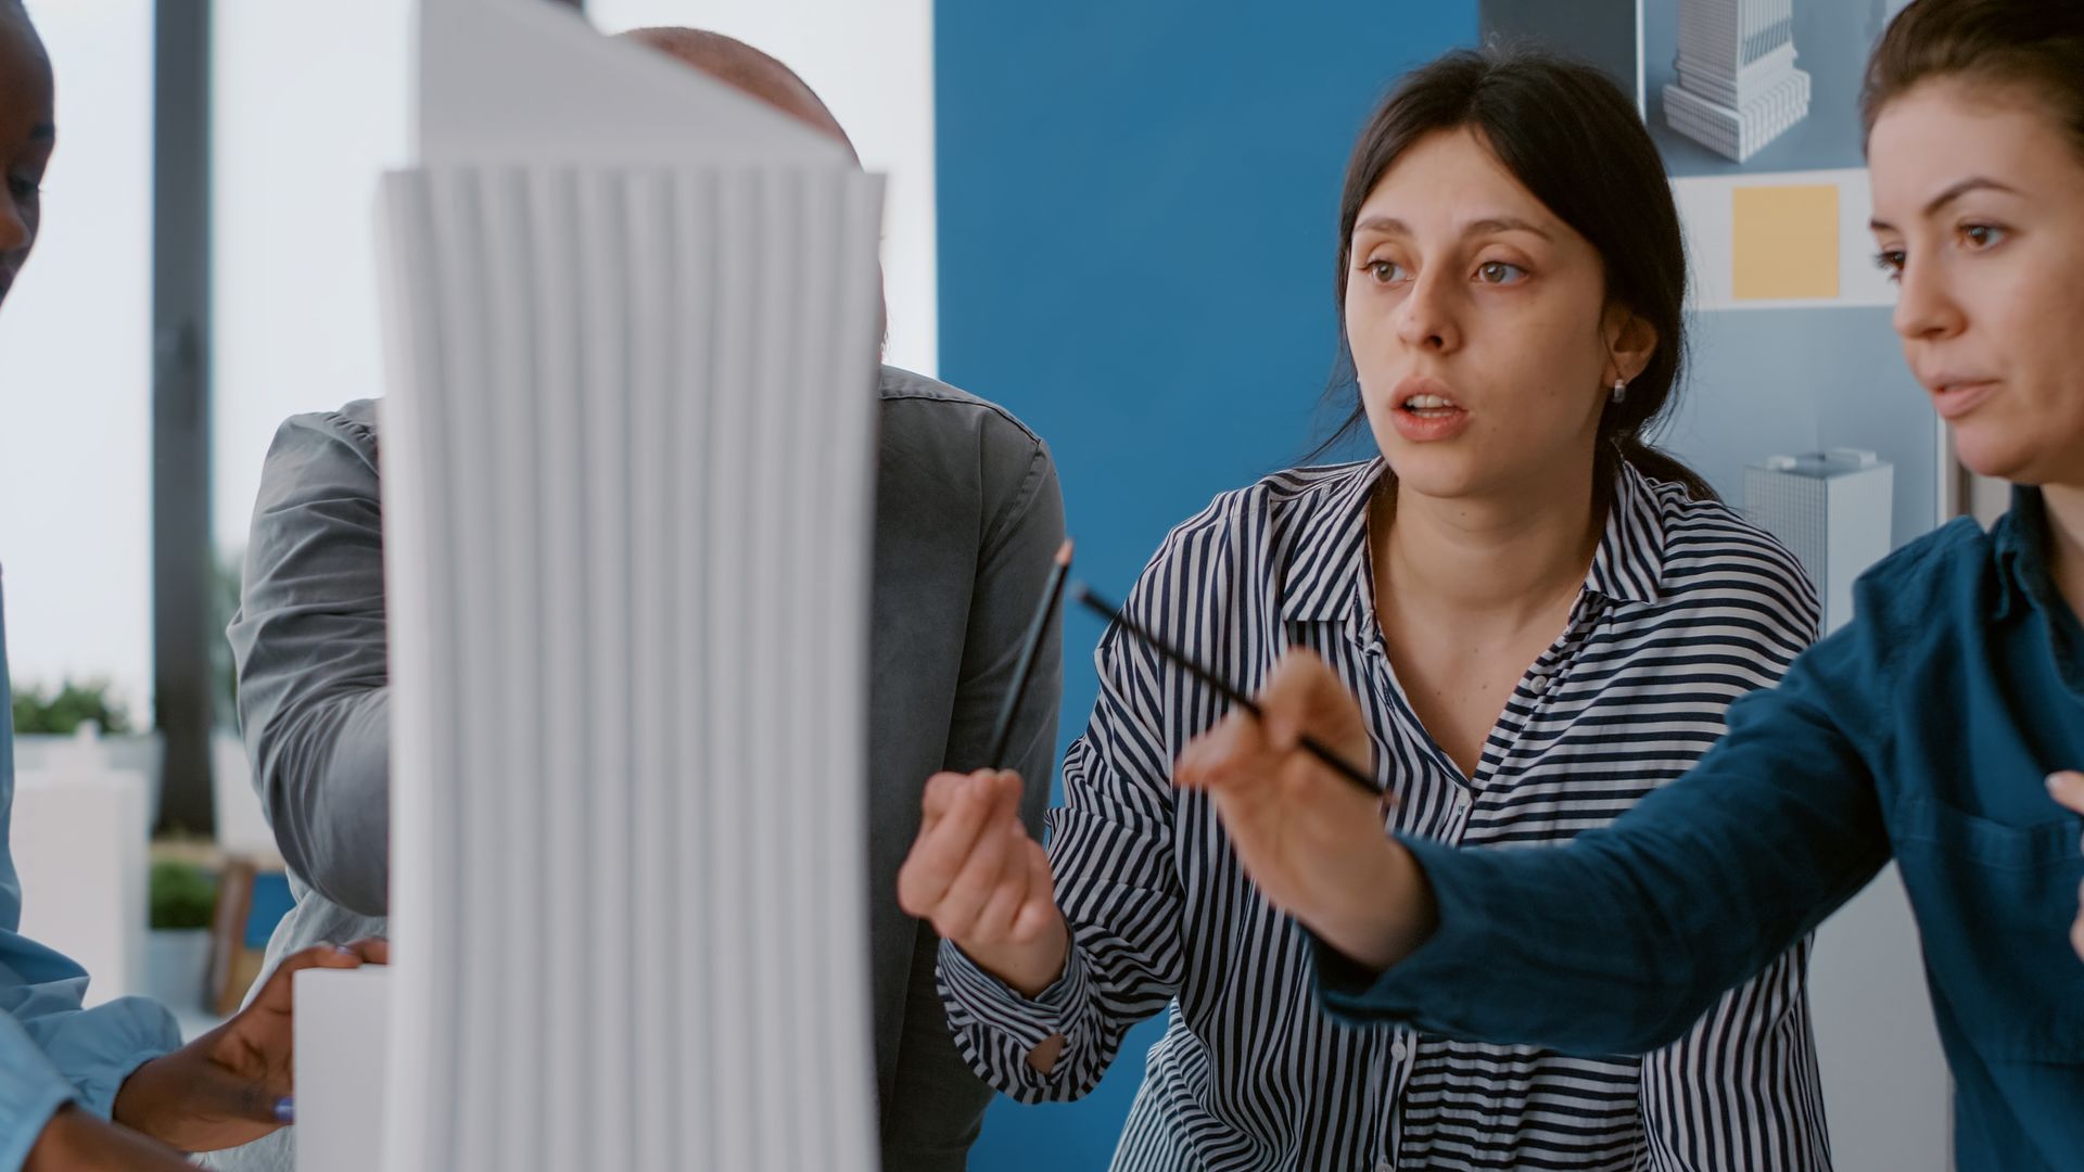
MULTIPOLYGON (((56 146, 50 58, 17 0, 0 0, 0 300, 42 223, 56 146)), ((381 941, 290 957, 238 1018, 181 1045, 156 1001, 81 1007, 88 974, 19 934, 15 726, 0 621, 0 1172, 181 1170, 179 1151, 281 1126, 290 1095, 290 980, 304 968, 381 961, 381 941), (113 1120, 113 1122, 110 1122, 113 1120)), ((33 832, 33 828, 27 828, 33 832)))

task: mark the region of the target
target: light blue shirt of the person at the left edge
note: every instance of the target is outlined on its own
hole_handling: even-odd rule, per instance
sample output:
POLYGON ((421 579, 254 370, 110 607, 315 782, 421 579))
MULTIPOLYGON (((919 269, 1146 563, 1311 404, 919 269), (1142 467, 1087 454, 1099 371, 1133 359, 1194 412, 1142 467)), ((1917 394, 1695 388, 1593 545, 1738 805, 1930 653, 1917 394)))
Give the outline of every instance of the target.
POLYGON ((148 1059, 181 1045, 156 1001, 123 997, 81 1009, 88 974, 23 938, 15 878, 15 719, 0 621, 0 1172, 15 1172, 65 1103, 106 1118, 117 1089, 148 1059))

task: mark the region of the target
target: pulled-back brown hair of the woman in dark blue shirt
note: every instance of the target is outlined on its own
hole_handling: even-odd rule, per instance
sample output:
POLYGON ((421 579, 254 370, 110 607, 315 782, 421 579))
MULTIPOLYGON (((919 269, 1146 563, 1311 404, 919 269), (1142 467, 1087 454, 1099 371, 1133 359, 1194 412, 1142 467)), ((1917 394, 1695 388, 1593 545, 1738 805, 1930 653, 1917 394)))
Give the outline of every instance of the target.
POLYGON ((1936 77, 2030 90, 2084 154, 2084 4, 1917 0, 1896 13, 1867 60, 1859 92, 1867 133, 1882 106, 1936 77))

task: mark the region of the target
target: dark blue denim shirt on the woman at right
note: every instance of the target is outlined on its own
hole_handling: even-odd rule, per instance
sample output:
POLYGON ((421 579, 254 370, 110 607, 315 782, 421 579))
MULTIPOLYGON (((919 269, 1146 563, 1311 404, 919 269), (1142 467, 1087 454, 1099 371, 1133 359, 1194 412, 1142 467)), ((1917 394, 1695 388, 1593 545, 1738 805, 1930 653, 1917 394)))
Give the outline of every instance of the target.
POLYGON ((1894 855, 1955 1076, 1963 1170, 2084 1168, 2084 630, 2055 590, 2040 492, 1871 569, 1857 619, 1730 709, 1686 778, 1569 847, 1409 840, 1440 926, 1371 974, 1317 945, 1357 1020, 1576 1053, 1678 1036, 1894 855))

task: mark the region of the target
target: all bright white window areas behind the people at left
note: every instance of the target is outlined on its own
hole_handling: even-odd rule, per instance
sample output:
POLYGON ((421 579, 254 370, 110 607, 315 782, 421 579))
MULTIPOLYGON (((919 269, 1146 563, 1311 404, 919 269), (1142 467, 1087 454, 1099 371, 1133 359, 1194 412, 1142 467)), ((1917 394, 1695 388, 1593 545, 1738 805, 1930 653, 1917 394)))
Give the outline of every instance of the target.
MULTIPOLYGON (((150 717, 150 0, 29 0, 58 73, 38 254, 0 311, 0 565, 21 682, 150 717)), ((890 361, 938 369, 932 0, 594 0, 796 69, 888 175, 890 361)), ((219 0, 213 528, 235 551, 283 417, 381 394, 371 198, 406 161, 411 0, 219 0)))

